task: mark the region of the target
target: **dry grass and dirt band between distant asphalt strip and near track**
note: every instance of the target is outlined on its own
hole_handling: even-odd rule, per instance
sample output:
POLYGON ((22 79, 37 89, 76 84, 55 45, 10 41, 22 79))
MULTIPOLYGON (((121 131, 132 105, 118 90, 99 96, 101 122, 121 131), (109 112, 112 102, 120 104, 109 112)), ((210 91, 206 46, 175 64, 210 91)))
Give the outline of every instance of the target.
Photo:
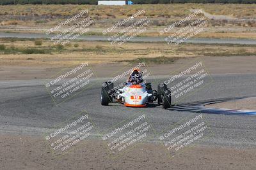
POLYGON ((37 41, 40 45, 35 40, 0 39, 0 80, 51 78, 61 69, 74 68, 82 62, 88 62, 97 76, 105 77, 142 60, 152 75, 170 75, 189 67, 198 57, 211 74, 256 73, 255 45, 115 46, 102 41, 76 41, 68 46, 55 46, 45 39, 37 41))

